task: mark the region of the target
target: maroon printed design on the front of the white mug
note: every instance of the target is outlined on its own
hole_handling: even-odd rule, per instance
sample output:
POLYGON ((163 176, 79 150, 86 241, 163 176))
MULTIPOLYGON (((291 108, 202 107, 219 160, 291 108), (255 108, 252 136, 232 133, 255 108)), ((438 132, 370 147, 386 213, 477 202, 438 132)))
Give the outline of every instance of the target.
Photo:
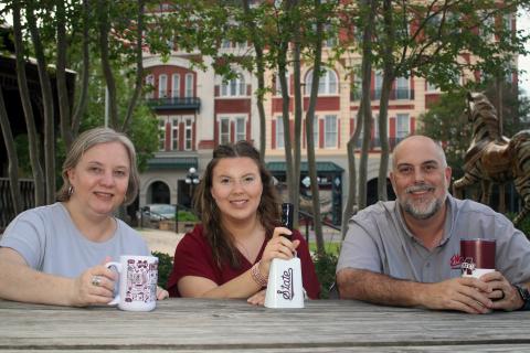
POLYGON ((127 260, 126 302, 157 300, 157 269, 158 264, 147 260, 127 260))

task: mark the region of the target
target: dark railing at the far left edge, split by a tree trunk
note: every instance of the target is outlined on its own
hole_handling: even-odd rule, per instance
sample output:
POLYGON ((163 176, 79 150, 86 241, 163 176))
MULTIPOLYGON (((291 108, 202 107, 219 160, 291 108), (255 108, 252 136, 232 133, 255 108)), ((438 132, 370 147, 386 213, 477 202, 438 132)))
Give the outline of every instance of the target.
MULTIPOLYGON (((0 234, 17 216, 13 207, 13 199, 11 197, 11 189, 8 178, 0 178, 0 234)), ((33 180, 19 180, 19 190, 22 196, 22 208, 28 210, 35 205, 35 192, 33 180)))

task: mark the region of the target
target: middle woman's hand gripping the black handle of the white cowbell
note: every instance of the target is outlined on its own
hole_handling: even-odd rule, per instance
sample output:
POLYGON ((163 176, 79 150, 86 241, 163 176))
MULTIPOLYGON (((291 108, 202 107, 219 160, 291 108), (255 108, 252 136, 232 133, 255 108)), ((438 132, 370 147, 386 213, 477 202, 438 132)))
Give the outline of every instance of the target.
POLYGON ((289 240, 282 235, 292 235, 293 232, 285 227, 274 228, 273 237, 268 240, 267 246, 263 250, 262 259, 259 260, 259 272, 264 278, 268 278, 268 270, 271 269, 271 261, 273 258, 283 258, 288 260, 293 258, 296 248, 300 245, 300 240, 289 240))

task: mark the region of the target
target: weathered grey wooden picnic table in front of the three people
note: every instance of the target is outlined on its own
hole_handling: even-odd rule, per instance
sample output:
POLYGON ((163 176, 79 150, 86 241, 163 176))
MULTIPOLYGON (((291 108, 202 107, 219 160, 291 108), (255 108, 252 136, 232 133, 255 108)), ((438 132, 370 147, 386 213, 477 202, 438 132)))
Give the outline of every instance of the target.
POLYGON ((2 351, 520 352, 530 312, 458 312, 315 300, 304 309, 168 299, 151 312, 0 300, 2 351))

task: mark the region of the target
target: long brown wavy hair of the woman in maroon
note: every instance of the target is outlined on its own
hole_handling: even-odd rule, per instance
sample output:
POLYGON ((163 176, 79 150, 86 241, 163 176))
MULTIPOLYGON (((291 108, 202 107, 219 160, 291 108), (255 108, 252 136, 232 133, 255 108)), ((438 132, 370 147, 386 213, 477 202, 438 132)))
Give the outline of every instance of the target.
POLYGON ((235 145, 220 145, 213 150, 213 159, 208 163, 204 175, 193 199, 193 206, 201 218, 204 235, 212 247, 213 259, 220 268, 222 264, 229 264, 233 268, 240 268, 241 261, 237 255, 237 249, 234 245, 234 237, 223 226, 221 222, 221 212, 210 191, 212 188, 213 169, 222 159, 243 157, 252 159, 259 170, 263 192, 259 205, 257 206, 257 218, 265 228, 265 236, 267 239, 273 236, 273 231, 275 226, 278 225, 278 196, 273 184, 273 176, 261 160, 259 152, 251 142, 244 140, 239 141, 235 145))

